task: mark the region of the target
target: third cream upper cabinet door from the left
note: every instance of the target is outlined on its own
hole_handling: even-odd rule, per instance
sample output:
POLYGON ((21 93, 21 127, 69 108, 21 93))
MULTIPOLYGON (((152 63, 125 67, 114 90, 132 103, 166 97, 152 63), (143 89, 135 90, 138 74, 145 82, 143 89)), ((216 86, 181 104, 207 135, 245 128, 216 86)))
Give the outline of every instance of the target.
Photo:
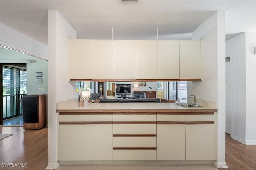
POLYGON ((136 79, 136 41, 114 41, 114 79, 136 79))

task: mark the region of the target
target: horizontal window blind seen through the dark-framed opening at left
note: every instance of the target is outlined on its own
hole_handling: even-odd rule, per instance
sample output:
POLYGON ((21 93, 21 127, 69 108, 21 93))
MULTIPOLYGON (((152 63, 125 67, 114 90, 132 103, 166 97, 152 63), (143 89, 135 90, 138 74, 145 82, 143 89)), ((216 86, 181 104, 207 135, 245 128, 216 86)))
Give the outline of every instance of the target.
POLYGON ((27 93, 27 71, 3 66, 3 96, 27 93))

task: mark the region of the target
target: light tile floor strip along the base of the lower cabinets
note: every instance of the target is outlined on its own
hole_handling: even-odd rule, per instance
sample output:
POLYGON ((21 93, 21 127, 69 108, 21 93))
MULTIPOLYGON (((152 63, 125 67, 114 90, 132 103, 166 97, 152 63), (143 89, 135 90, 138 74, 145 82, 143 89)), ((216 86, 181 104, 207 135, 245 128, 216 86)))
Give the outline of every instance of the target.
POLYGON ((58 170, 218 170, 214 165, 62 165, 58 170))

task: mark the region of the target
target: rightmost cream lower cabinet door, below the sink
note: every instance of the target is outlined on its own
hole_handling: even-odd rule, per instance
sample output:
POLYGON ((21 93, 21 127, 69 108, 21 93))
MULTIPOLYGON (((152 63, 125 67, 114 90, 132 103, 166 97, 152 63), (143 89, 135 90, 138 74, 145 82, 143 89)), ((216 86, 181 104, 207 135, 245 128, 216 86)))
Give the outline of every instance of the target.
POLYGON ((186 160, 215 160, 214 124, 186 125, 186 160))

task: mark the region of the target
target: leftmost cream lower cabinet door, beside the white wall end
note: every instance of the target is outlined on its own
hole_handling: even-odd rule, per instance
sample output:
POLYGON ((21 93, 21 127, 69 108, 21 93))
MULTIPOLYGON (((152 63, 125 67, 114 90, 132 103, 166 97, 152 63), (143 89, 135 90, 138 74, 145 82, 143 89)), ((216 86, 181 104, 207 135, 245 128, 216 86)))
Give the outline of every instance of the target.
POLYGON ((59 125, 59 160, 86 160, 86 125, 59 125))

